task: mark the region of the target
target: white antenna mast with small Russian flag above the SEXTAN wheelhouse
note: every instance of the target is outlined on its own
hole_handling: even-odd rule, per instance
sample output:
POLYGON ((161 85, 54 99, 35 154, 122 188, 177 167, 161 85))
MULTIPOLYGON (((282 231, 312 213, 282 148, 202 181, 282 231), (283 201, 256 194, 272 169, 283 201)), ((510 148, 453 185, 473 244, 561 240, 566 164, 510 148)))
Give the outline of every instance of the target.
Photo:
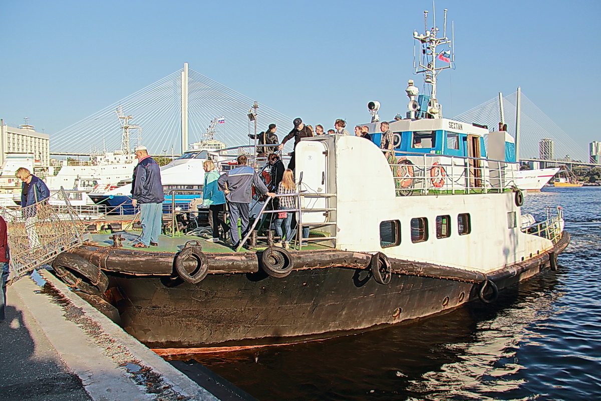
POLYGON ((436 17, 434 17, 434 23, 432 30, 428 30, 428 11, 424 11, 424 31, 425 34, 418 34, 417 31, 413 32, 413 38, 419 40, 421 43, 421 54, 419 55, 419 66, 416 67, 415 73, 425 74, 424 84, 430 84, 432 87, 432 93, 430 94, 430 102, 428 105, 427 112, 432 115, 432 118, 442 118, 442 106, 436 99, 436 77, 442 70, 446 70, 452 67, 454 61, 453 45, 452 41, 447 37, 447 9, 445 8, 444 17, 444 28, 443 36, 441 38, 436 37, 436 34, 440 29, 436 27, 436 17), (436 47, 448 45, 449 51, 437 51, 436 47), (448 63, 448 66, 436 67, 436 59, 441 60, 443 63, 448 63), (444 59, 448 60, 445 61, 444 59))

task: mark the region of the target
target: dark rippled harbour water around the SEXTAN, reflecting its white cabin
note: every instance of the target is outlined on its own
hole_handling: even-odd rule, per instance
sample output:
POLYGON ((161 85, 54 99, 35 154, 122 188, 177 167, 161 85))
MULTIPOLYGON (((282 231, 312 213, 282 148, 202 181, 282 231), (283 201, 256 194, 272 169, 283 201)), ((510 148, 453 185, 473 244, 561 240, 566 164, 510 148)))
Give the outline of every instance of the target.
POLYGON ((523 212, 546 205, 564 207, 572 234, 560 269, 493 305, 197 360, 261 401, 601 399, 601 188, 528 194, 523 212))

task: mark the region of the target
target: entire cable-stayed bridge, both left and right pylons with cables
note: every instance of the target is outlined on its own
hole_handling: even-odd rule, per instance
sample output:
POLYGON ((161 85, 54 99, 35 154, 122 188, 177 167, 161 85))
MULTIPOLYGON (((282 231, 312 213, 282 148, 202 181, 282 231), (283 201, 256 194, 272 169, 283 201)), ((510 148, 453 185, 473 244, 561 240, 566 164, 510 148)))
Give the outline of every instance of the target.
MULTIPOLYGON (((500 121, 507 124, 507 131, 516 132, 516 109, 518 91, 494 97, 472 108, 454 120, 466 123, 486 124, 495 130, 500 121)), ((555 164, 587 164, 588 151, 551 118, 534 105, 526 96, 520 99, 519 158, 522 161, 547 161, 555 164), (552 154, 540 156, 540 142, 551 139, 552 154), (569 158, 566 156, 569 155, 569 158)), ((90 155, 103 150, 123 150, 123 123, 130 125, 129 150, 142 144, 153 155, 180 155, 184 145, 203 139, 212 120, 224 120, 216 124, 215 139, 227 146, 254 144, 248 137, 254 133, 254 121, 248 113, 254 100, 225 85, 219 84, 185 65, 171 75, 127 96, 112 105, 53 134, 50 138, 52 155, 90 155), (187 138, 187 139, 186 139, 187 138)), ((266 130, 275 123, 278 137, 282 139, 292 129, 292 118, 262 103, 258 103, 257 130, 266 130)), ((291 148, 289 141, 287 148, 291 148)), ((547 152, 549 153, 549 152, 547 152)))

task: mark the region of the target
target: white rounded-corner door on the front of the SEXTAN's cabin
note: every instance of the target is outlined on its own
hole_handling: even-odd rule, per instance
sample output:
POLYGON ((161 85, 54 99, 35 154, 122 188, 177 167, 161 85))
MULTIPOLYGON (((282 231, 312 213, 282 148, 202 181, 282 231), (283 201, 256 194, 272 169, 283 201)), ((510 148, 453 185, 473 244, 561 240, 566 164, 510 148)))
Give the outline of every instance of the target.
MULTIPOLYGON (((296 180, 301 180, 299 191, 309 194, 326 194, 328 188, 328 146, 322 141, 301 141, 296 146, 296 180)), ((301 197, 303 209, 316 209, 302 213, 302 222, 326 221, 325 197, 301 197)))

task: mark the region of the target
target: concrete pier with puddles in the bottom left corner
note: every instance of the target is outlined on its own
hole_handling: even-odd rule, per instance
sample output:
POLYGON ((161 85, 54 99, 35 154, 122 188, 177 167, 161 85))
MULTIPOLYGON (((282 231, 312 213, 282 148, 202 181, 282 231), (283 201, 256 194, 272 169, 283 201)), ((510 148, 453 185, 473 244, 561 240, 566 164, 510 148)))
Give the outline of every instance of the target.
POLYGON ((49 272, 8 286, 6 315, 0 400, 253 400, 214 374, 201 387, 49 272))

